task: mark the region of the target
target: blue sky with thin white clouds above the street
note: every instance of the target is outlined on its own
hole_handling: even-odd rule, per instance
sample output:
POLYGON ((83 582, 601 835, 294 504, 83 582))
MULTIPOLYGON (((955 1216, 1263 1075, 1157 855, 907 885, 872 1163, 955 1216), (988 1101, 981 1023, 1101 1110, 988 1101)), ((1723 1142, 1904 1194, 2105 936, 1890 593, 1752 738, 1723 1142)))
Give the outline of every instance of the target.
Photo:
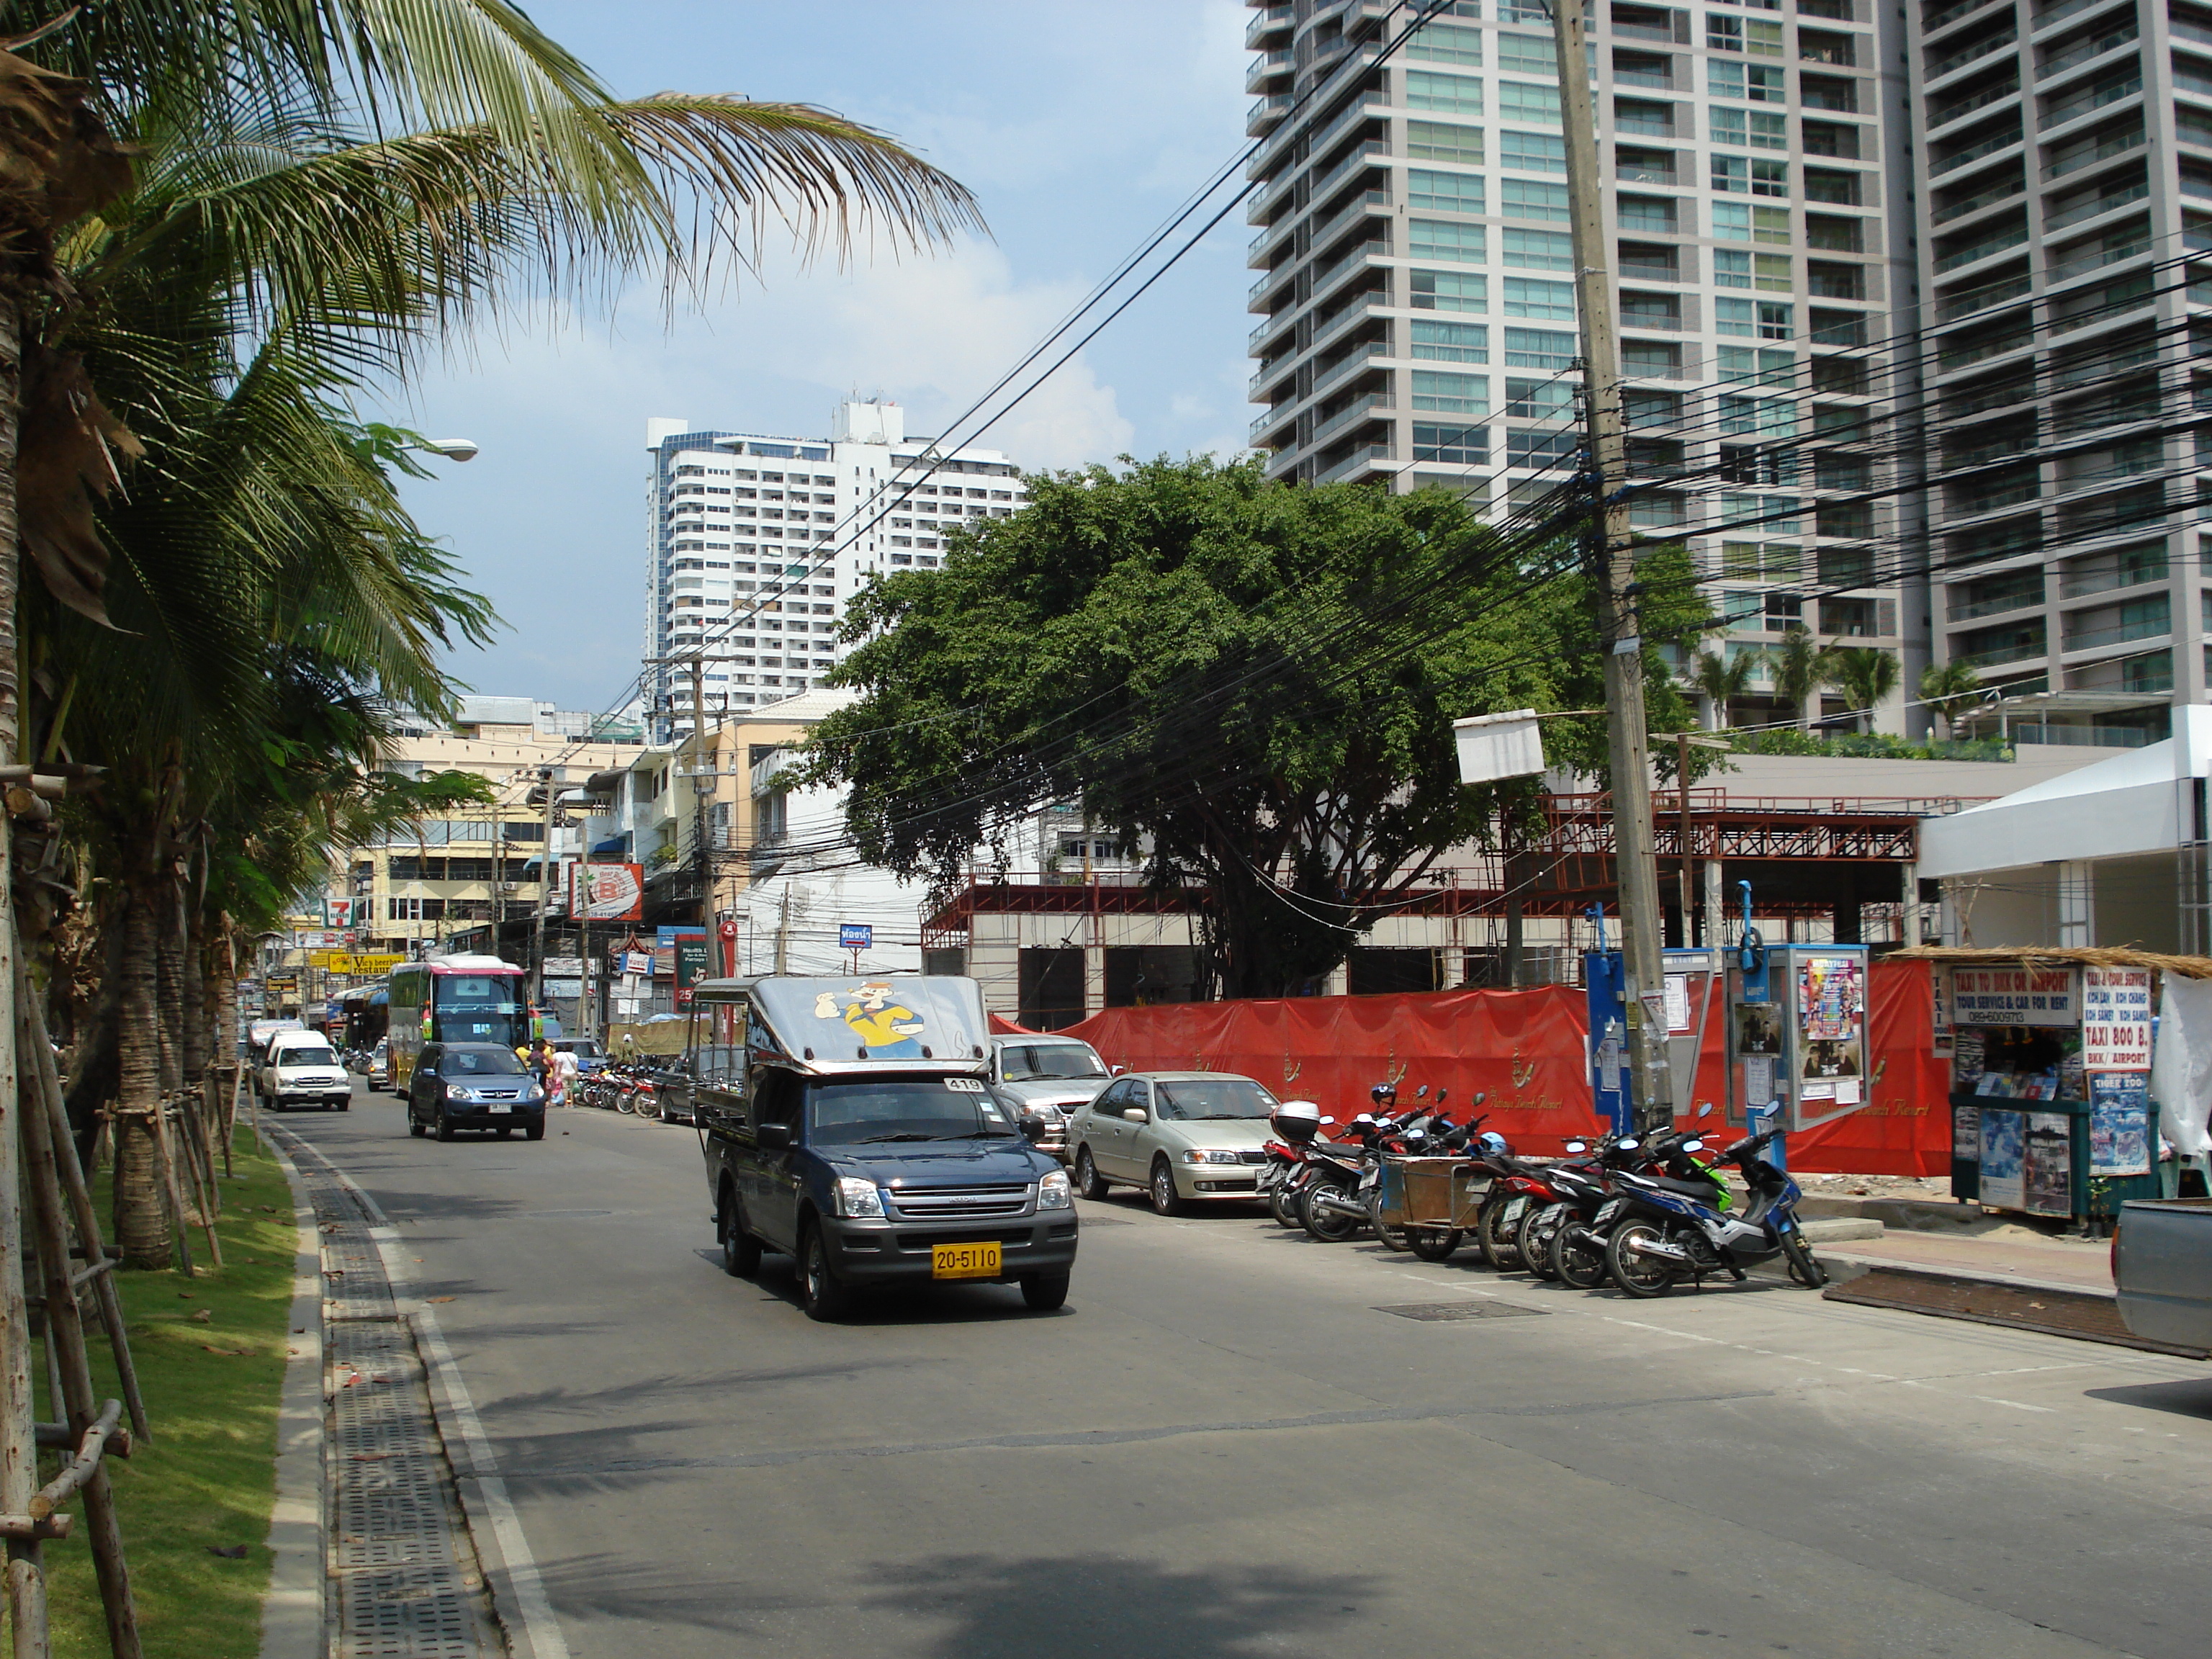
MULTIPOLYGON (((624 95, 821 104, 964 181, 991 239, 863 250, 666 323, 657 285, 613 316, 513 319, 374 409, 482 445, 409 507, 507 628, 453 670, 484 692, 604 708, 644 637, 644 422, 825 434, 841 396, 936 434, 1051 330, 1243 139, 1234 0, 533 0, 546 33, 624 95)), ((1243 445, 1241 215, 982 442, 1031 467, 1243 445)))

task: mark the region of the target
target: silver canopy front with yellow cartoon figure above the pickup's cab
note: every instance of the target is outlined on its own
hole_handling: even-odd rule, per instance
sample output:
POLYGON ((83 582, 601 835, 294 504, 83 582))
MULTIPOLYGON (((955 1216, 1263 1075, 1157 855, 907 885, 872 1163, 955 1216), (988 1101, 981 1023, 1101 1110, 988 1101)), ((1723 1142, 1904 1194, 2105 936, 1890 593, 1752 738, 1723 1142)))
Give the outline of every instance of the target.
POLYGON ((701 1011, 748 1004, 752 1051, 814 1071, 914 1068, 916 1062, 975 1071, 989 1042, 982 987, 949 973, 701 980, 692 1002, 701 1011))

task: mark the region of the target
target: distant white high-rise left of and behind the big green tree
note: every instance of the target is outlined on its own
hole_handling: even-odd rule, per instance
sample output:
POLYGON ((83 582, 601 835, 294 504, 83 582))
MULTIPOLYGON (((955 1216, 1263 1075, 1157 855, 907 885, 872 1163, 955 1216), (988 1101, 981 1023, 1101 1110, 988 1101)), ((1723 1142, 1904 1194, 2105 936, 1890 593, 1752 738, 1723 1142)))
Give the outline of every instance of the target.
POLYGON ((646 420, 646 661, 655 732, 807 690, 838 657, 845 602, 880 571, 936 568, 947 531, 1026 500, 998 449, 907 438, 896 403, 845 403, 827 438, 646 420))

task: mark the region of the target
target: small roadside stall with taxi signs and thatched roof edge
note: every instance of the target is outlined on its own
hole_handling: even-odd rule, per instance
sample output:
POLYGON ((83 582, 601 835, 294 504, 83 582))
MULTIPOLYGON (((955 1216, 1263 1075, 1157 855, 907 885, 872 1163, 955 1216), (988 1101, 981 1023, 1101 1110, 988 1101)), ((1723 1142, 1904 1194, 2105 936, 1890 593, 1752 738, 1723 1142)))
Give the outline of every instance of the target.
POLYGON ((1953 1197, 2084 1223, 2159 1197, 2154 1013, 2168 975, 2212 980, 2212 960, 2104 947, 1898 956, 1933 969, 1953 1197))

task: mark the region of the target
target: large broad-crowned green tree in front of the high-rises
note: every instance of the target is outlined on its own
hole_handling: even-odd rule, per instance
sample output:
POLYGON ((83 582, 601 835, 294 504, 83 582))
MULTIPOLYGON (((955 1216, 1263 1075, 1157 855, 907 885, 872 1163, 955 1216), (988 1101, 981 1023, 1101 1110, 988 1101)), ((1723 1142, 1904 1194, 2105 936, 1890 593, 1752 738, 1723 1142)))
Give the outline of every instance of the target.
MULTIPOLYGON (((1679 562, 1652 553, 1648 588, 1694 593, 1679 562)), ((1460 783, 1453 719, 1601 699, 1557 526, 1504 540, 1447 491, 1272 484, 1259 462, 1033 478, 1026 511, 865 591, 847 628, 838 675, 865 697, 816 728, 814 776, 849 790, 860 856, 953 878, 1079 801, 1197 900, 1223 995, 1310 987, 1449 847, 1526 810, 1533 781, 1460 783)), ((1652 730, 1679 730, 1681 695, 1650 681, 1652 730)), ((1546 754, 1601 770, 1601 723, 1546 721, 1546 754)))

